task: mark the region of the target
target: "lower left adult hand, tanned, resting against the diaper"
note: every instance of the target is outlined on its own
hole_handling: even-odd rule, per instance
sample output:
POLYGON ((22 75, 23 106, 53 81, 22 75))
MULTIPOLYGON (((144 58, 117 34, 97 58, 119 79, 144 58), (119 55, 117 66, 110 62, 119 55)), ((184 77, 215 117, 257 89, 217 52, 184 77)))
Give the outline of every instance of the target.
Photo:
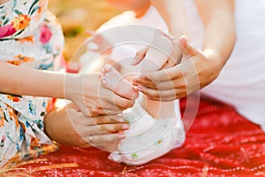
POLYGON ((74 104, 50 112, 44 118, 45 133, 49 138, 66 145, 87 148, 90 146, 111 150, 125 138, 128 129, 120 116, 85 117, 74 104), (112 134, 111 134, 112 133, 112 134))

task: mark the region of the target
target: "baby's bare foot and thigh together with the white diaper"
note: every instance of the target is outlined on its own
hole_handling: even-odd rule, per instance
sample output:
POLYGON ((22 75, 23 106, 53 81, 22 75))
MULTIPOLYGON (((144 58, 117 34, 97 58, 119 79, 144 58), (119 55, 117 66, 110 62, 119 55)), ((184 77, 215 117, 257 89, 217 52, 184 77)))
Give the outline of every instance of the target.
MULTIPOLYGON (((131 83, 125 81, 111 65, 105 65, 102 69, 102 84, 127 98, 137 93, 131 83)), ((130 122, 130 129, 125 132, 125 140, 118 144, 118 150, 112 152, 109 158, 128 165, 141 165, 182 145, 185 132, 178 107, 178 112, 175 112, 176 106, 172 102, 153 103, 139 96, 133 108, 123 112, 130 122)))

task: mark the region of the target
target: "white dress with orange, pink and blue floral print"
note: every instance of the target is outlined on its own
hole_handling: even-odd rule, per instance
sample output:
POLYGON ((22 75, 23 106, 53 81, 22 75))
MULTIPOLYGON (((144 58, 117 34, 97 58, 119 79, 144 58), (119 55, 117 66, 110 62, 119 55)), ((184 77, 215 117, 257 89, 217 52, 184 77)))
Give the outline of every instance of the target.
MULTIPOLYGON (((47 6, 48 0, 0 4, 0 60, 39 70, 58 69, 64 36, 47 6)), ((43 132, 49 103, 46 97, 0 94, 0 166, 56 150, 43 132)))

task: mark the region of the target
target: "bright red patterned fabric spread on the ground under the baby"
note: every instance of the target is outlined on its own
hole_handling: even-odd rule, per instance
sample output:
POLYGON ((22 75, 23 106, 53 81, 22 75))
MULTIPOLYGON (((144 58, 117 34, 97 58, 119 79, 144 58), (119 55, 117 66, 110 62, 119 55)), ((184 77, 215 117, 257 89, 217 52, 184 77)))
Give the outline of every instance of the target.
MULTIPOLYGON (((184 99, 182 112, 185 105, 184 99)), ((107 152, 95 148, 62 146, 57 152, 14 166, 2 175, 265 176, 265 134, 230 106, 202 99, 181 148, 140 166, 117 164, 107 157, 107 152)))

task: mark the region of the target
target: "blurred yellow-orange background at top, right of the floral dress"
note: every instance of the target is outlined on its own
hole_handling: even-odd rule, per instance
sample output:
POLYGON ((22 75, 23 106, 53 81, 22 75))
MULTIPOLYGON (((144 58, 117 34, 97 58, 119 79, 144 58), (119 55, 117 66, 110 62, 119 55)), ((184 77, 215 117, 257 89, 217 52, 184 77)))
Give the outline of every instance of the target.
POLYGON ((49 0, 49 11, 61 22, 65 48, 64 58, 70 60, 75 50, 105 21, 120 13, 107 0, 49 0))

